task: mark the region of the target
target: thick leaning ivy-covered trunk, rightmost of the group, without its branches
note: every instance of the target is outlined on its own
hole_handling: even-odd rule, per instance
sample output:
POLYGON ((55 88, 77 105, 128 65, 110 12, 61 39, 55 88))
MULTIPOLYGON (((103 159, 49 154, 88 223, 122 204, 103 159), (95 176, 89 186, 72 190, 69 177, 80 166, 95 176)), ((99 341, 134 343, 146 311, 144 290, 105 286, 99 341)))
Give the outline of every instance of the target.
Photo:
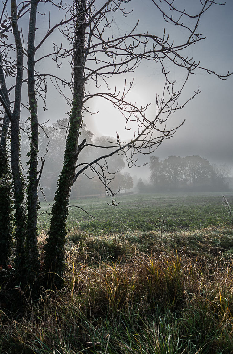
POLYGON ((78 145, 80 126, 82 124, 84 65, 85 65, 85 0, 80 0, 77 8, 74 50, 73 50, 73 77, 74 96, 73 106, 69 117, 69 133, 64 152, 63 169, 60 173, 57 191, 52 207, 52 218, 45 245, 45 270, 48 276, 48 287, 60 288, 63 284, 64 244, 66 236, 66 221, 68 217, 69 196, 78 154, 82 149, 83 141, 78 145))

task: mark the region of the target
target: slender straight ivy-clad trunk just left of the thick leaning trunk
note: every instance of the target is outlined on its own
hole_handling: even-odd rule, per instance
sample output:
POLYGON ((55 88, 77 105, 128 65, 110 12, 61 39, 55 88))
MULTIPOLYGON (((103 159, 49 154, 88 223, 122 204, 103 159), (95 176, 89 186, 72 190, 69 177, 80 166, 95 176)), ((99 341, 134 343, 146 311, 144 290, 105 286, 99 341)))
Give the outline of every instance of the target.
POLYGON ((28 98, 30 109, 30 164, 27 187, 27 235, 25 242, 27 281, 32 285, 39 271, 39 254, 37 248, 37 206, 38 206, 38 115, 35 95, 35 32, 37 0, 30 1, 30 18, 28 30, 28 98))

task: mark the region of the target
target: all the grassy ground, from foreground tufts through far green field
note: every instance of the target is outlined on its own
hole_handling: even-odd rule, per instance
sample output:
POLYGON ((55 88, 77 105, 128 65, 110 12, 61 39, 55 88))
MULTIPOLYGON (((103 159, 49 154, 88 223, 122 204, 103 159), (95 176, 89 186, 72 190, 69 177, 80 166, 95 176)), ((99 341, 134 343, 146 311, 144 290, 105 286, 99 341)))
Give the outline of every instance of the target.
MULTIPOLYGON (((117 201, 70 201, 64 289, 36 301, 20 286, 7 293, 0 353, 233 353, 233 226, 221 193, 117 201)), ((40 212, 43 255, 49 207, 40 212)))

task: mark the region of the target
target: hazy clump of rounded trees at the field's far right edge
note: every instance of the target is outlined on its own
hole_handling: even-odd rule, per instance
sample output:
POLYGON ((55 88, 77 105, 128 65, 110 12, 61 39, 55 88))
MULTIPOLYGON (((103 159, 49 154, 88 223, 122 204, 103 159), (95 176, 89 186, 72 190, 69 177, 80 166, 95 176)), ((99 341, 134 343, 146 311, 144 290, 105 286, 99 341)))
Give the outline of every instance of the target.
POLYGON ((165 160, 158 156, 150 156, 150 184, 142 179, 138 181, 140 192, 155 191, 214 191, 228 190, 226 177, 230 168, 226 164, 211 165, 199 155, 180 156, 171 155, 165 160))

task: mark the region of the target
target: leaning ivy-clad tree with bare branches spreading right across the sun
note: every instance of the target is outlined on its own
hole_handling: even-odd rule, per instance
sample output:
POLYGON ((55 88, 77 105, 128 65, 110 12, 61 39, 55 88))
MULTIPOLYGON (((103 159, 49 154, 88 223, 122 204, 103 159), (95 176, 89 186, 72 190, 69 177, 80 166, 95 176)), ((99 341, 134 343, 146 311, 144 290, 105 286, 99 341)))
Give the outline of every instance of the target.
MULTIPOLYGON (((136 164, 138 153, 150 154, 165 139, 173 136, 178 127, 167 129, 166 122, 172 113, 183 108, 187 103, 179 103, 179 99, 190 74, 197 68, 213 73, 220 79, 226 79, 229 75, 228 73, 221 76, 209 69, 204 69, 193 58, 188 58, 185 54, 187 47, 204 38, 197 32, 199 21, 203 13, 214 4, 214 1, 201 3, 200 11, 196 15, 180 11, 174 6, 174 2, 164 1, 165 5, 168 6, 167 12, 163 10, 159 1, 152 0, 152 2, 166 21, 175 23, 178 27, 180 26, 187 31, 187 39, 182 44, 177 45, 173 41, 170 42, 165 31, 162 38, 155 34, 138 33, 137 24, 129 33, 116 36, 113 29, 112 36, 109 36, 112 14, 118 11, 123 16, 127 16, 128 12, 125 6, 129 3, 128 0, 106 1, 101 7, 98 6, 97 1, 81 0, 76 1, 70 9, 71 16, 77 15, 77 17, 74 27, 71 27, 70 24, 67 25, 68 34, 65 34, 65 31, 63 33, 70 39, 74 48, 72 62, 74 97, 64 157, 65 163, 58 181, 46 245, 45 264, 47 272, 52 271, 59 276, 63 273, 63 250, 69 190, 77 178, 86 170, 91 169, 105 185, 106 192, 112 196, 112 204, 114 205, 113 197, 115 193, 112 192, 109 178, 106 178, 105 173, 105 171, 108 172, 107 158, 114 154, 124 154, 129 166, 132 166, 136 164), (174 20, 175 16, 171 15, 172 12, 176 14, 176 20, 174 20), (185 18, 188 18, 188 20, 194 19, 191 27, 184 24, 185 18), (71 35, 72 28, 74 28, 73 36, 71 35), (138 107, 136 103, 127 101, 127 93, 132 87, 132 82, 128 89, 126 89, 125 84, 122 92, 117 91, 116 88, 111 91, 109 87, 111 77, 134 72, 143 60, 159 63, 165 77, 162 96, 159 97, 156 94, 156 112, 153 119, 149 119, 146 115, 148 105, 138 107), (177 65, 186 72, 186 78, 177 91, 175 91, 175 82, 171 82, 169 79, 165 61, 168 61, 169 65, 171 63, 177 65), (85 85, 90 80, 95 82, 97 90, 94 93, 85 92, 85 85), (107 90, 106 88, 102 90, 104 85, 106 85, 107 90), (132 122, 136 122, 138 129, 127 142, 122 141, 117 134, 117 143, 112 142, 108 147, 91 144, 93 148, 101 148, 103 153, 100 153, 100 156, 92 161, 76 165, 78 155, 90 144, 86 144, 83 140, 80 145, 77 145, 79 135, 75 131, 81 127, 82 110, 87 110, 87 103, 93 97, 101 97, 110 101, 124 116, 126 129, 130 129, 132 122), (75 120, 74 127, 73 120, 75 120), (71 159, 71 152, 74 159, 71 159)), ((190 99, 196 96, 198 92, 194 92, 190 99)))

